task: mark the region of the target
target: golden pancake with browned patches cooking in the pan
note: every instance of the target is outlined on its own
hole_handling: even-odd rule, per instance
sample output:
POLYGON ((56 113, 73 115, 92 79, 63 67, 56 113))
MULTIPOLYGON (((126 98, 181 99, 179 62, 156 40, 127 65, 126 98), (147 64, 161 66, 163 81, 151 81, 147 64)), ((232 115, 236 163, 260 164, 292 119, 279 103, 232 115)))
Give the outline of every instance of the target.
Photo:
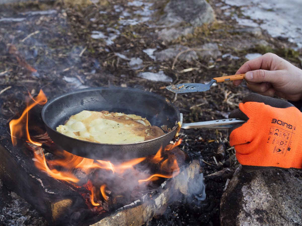
POLYGON ((107 144, 136 143, 164 135, 146 118, 108 111, 81 111, 56 130, 79 140, 107 144))

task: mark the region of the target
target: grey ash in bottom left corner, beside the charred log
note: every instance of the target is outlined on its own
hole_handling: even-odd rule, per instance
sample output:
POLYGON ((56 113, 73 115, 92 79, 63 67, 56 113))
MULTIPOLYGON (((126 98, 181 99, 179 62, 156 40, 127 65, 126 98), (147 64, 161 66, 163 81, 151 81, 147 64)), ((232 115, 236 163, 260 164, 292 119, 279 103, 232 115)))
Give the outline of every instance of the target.
POLYGON ((48 224, 24 199, 10 192, 0 180, 0 225, 25 226, 48 224), (5 197, 5 198, 4 198, 5 197))

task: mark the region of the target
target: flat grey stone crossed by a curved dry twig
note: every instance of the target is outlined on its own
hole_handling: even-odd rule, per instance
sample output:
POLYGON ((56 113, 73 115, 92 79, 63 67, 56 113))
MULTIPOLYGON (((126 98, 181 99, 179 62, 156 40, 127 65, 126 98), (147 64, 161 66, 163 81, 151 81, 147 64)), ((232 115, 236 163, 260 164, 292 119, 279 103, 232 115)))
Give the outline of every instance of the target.
MULTIPOLYGON (((175 57, 178 55, 178 53, 185 51, 187 49, 190 49, 190 48, 187 46, 175 45, 168 49, 154 52, 154 56, 156 57, 156 60, 158 60, 158 61, 174 60, 175 57)), ((182 53, 182 55, 180 55, 178 57, 178 60, 187 61, 187 62, 192 62, 194 59, 198 59, 198 55, 193 50, 182 53)))

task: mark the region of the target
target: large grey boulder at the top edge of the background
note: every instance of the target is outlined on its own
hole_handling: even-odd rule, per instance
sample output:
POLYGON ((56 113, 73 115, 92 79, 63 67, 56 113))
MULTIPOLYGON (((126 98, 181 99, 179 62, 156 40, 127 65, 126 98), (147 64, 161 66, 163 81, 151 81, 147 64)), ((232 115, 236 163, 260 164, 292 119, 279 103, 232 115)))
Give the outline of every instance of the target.
POLYGON ((205 0, 170 0, 164 9, 164 24, 190 23, 194 27, 214 21, 214 10, 205 0))

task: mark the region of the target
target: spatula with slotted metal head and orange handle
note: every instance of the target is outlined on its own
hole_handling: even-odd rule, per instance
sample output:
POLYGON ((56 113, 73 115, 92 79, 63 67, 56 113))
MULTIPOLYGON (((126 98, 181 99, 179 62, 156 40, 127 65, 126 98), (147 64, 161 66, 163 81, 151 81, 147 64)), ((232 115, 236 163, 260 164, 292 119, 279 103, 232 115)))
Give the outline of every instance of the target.
POLYGON ((177 85, 167 86, 166 89, 173 93, 192 93, 192 92, 204 92, 210 89, 215 82, 233 81, 244 79, 245 74, 236 74, 230 76, 223 76, 213 78, 208 84, 203 83, 182 83, 177 85))

